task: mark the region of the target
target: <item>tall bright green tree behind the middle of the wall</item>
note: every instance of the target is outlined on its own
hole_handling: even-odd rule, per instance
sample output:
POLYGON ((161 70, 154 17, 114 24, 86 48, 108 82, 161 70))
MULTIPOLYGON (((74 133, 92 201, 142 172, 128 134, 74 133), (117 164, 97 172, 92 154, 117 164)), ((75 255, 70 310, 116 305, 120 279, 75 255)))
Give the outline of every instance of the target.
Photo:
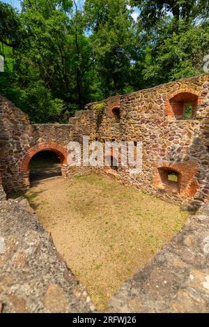
POLYGON ((105 96, 122 93, 130 80, 136 39, 132 10, 126 0, 86 0, 86 25, 92 31, 91 45, 105 96))

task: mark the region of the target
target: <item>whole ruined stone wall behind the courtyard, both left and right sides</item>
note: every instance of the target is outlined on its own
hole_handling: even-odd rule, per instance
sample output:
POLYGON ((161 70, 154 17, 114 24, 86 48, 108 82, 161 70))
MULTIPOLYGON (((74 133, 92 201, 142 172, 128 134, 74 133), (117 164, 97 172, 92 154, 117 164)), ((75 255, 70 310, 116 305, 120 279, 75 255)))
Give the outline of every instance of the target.
MULTIPOLYGON (((109 174, 167 201, 201 206, 209 198, 208 86, 208 75, 201 75, 115 96, 99 102, 104 104, 102 109, 98 103, 86 105, 86 110, 77 112, 67 125, 31 124, 26 114, 0 98, 0 175, 4 190, 13 192, 29 186, 29 161, 38 151, 48 149, 60 156, 65 177, 90 172, 109 174), (184 102, 192 103, 194 119, 180 119, 184 102), (130 175, 125 167, 117 172, 110 167, 68 167, 67 145, 70 141, 82 144, 84 135, 89 142, 142 142, 142 172, 130 175), (162 190, 168 169, 179 174, 179 192, 162 190)), ((114 156, 114 151, 109 155, 114 156)))

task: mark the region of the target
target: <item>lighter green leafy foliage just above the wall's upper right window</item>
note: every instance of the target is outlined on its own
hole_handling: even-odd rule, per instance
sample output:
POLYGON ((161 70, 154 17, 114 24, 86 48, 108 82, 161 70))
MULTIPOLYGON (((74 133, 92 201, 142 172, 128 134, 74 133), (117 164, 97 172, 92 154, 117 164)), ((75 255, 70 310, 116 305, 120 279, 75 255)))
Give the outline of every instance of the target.
POLYGON ((146 86, 203 73, 203 56, 209 49, 209 26, 189 25, 187 29, 185 26, 181 29, 180 33, 172 33, 169 38, 164 38, 160 29, 155 40, 157 44, 145 48, 141 75, 146 86))

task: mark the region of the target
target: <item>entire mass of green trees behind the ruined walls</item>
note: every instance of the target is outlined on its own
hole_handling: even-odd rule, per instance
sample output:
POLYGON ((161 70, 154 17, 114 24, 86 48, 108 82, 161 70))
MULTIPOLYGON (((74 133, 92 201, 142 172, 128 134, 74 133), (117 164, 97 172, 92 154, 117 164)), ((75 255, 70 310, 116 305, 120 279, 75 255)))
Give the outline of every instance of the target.
POLYGON ((208 3, 86 0, 79 10, 72 0, 23 0, 17 13, 0 2, 0 93, 31 121, 68 123, 87 102, 199 75, 208 3))

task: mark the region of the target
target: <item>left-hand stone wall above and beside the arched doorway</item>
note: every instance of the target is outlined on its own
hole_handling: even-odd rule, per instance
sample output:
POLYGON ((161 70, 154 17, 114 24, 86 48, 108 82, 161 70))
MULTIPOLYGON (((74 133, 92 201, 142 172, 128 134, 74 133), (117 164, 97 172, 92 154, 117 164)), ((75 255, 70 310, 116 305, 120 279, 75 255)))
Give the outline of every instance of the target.
POLYGON ((33 155, 51 148, 59 155, 67 155, 70 124, 31 124, 28 116, 5 98, 0 98, 0 128, 0 174, 6 192, 17 192, 29 185, 28 167, 24 170, 22 166, 33 147, 33 155))

